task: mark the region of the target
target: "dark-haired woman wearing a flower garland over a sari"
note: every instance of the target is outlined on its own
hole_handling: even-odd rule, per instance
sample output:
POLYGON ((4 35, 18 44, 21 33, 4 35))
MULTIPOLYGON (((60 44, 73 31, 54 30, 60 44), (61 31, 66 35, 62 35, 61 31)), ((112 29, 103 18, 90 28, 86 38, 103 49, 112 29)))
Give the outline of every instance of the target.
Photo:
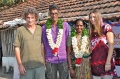
POLYGON ((67 44, 67 51, 71 77, 73 79, 91 79, 89 36, 86 24, 82 19, 75 21, 75 29, 71 31, 69 41, 71 42, 67 44))

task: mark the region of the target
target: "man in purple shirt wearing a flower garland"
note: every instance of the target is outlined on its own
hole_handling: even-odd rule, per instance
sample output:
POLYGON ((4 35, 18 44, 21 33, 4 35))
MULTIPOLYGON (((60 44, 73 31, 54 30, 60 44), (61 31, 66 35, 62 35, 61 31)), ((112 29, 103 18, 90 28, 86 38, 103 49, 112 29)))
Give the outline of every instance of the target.
POLYGON ((50 18, 42 27, 47 79, 57 79, 57 71, 59 79, 69 79, 66 52, 69 25, 58 18, 59 7, 57 5, 49 6, 49 15, 50 18))

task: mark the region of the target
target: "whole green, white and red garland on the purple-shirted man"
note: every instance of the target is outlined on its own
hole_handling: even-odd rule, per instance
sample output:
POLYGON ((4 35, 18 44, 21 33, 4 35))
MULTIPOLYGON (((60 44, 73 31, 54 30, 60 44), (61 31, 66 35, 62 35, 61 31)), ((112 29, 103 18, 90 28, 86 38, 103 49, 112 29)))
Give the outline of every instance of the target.
POLYGON ((60 47, 60 43, 62 41, 62 35, 63 35, 63 25, 62 25, 63 21, 61 19, 58 19, 58 35, 57 35, 57 41, 56 43, 54 43, 53 39, 52 39, 52 34, 51 34, 51 25, 52 25, 52 20, 48 19, 46 22, 46 34, 47 34, 47 39, 48 39, 48 43, 50 45, 50 47, 52 48, 52 52, 54 56, 57 56, 58 54, 58 48, 60 47))

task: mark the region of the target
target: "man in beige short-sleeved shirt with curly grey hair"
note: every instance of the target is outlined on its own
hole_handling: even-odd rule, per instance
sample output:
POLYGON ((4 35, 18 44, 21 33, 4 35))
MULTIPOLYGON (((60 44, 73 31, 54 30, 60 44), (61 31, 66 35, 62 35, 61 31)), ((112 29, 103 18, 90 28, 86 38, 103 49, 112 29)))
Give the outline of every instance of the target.
POLYGON ((29 7, 24 12, 26 25, 16 31, 14 40, 20 79, 45 79, 45 70, 41 52, 41 27, 36 25, 38 14, 29 7), (41 73, 42 72, 42 73, 41 73))

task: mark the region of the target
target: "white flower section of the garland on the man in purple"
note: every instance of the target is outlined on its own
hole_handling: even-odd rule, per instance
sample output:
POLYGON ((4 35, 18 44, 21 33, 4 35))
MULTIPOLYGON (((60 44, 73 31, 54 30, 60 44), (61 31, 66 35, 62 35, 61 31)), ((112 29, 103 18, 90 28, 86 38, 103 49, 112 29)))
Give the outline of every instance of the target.
MULTIPOLYGON (((54 41, 52 39, 51 29, 46 29, 46 34, 47 34, 47 38, 48 38, 48 43, 49 43, 50 47, 52 48, 52 50, 54 50, 55 48, 59 48, 61 41, 62 41, 63 29, 59 29, 56 43, 54 43, 54 41)), ((58 52, 56 52, 54 54, 54 56, 57 56, 57 53, 58 52)))

